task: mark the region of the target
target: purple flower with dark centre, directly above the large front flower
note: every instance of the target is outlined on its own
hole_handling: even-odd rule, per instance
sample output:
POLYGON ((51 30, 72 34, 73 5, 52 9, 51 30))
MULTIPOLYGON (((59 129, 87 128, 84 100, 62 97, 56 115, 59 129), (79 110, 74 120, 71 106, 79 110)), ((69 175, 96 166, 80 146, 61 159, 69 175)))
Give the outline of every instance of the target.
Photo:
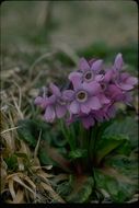
POLYGON ((90 60, 89 62, 81 58, 79 61, 79 71, 71 72, 69 74, 69 80, 73 81, 76 79, 81 79, 83 82, 91 81, 101 81, 103 79, 103 74, 99 74, 102 69, 103 60, 90 60))

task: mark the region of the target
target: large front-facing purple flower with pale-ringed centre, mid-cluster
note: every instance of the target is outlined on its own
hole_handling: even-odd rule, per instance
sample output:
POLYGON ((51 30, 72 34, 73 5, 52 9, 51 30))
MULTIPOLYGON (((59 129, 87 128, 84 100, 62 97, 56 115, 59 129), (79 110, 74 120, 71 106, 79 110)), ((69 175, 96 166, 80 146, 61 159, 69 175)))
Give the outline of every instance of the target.
MULTIPOLYGON (((70 90, 70 113, 89 114, 91 109, 100 109, 102 107, 101 101, 97 96, 101 92, 101 86, 97 82, 92 81, 90 83, 82 83, 80 78, 77 77, 72 80, 72 84, 73 90, 70 90)), ((68 90, 67 93, 69 93, 68 90)))

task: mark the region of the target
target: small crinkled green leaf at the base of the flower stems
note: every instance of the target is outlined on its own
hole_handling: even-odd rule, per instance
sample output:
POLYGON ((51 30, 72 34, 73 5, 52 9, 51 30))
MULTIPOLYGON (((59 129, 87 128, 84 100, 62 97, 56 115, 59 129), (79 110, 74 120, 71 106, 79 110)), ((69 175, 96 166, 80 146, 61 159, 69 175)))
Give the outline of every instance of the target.
POLYGON ((85 158, 86 155, 88 155, 88 150, 85 149, 77 149, 69 152, 70 159, 85 158))

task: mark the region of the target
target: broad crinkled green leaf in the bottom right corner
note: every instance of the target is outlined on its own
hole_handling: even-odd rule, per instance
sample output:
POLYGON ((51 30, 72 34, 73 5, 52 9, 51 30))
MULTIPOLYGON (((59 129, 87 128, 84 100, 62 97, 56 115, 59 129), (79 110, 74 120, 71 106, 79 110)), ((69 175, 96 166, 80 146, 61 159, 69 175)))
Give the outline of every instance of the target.
POLYGON ((124 203, 136 193, 135 184, 112 169, 95 170, 95 183, 100 190, 105 189, 108 193, 114 203, 124 203))

